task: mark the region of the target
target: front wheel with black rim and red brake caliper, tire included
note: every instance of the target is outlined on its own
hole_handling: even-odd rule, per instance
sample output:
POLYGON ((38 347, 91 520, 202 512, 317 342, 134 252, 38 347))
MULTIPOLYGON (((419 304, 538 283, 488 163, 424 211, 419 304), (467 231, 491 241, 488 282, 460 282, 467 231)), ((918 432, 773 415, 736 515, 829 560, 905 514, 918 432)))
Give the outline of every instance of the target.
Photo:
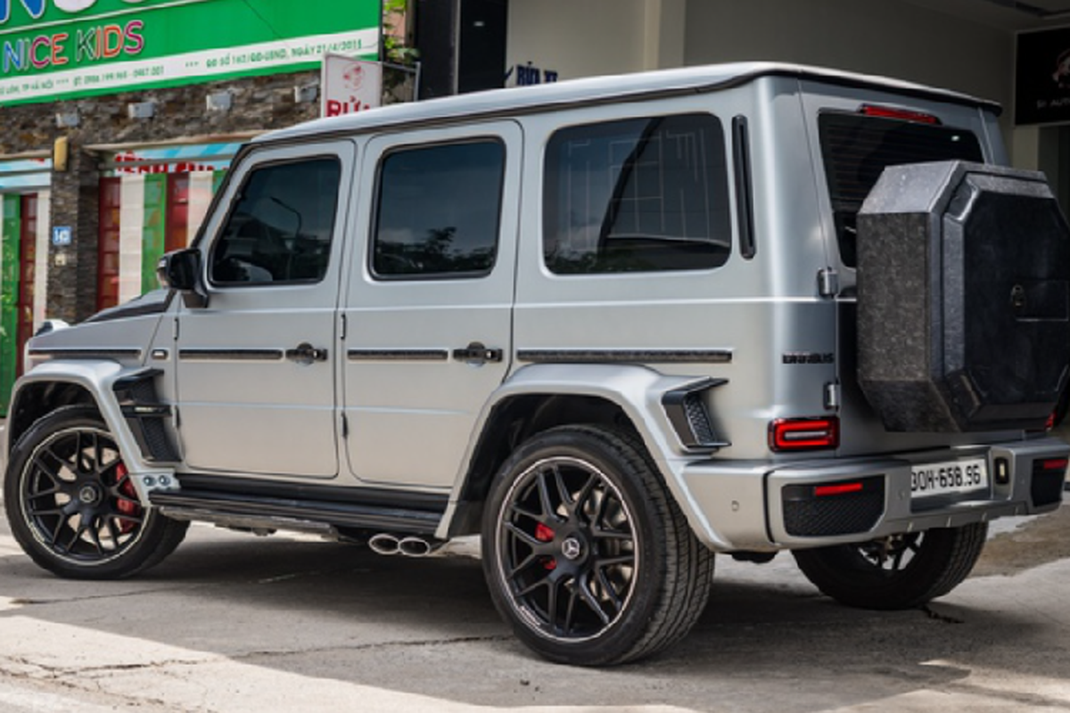
POLYGON ((137 500, 107 425, 91 406, 59 408, 18 439, 4 477, 12 534, 42 568, 118 579, 159 563, 188 523, 137 500))

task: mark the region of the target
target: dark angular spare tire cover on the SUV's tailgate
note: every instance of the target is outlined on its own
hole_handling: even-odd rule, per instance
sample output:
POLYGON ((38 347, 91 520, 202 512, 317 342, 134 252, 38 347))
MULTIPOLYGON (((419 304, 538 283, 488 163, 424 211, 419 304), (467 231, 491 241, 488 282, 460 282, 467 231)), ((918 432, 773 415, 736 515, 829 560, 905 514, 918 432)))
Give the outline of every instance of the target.
POLYGON ((889 167, 858 213, 858 381, 889 431, 1043 429, 1068 305, 1070 230, 1042 173, 889 167))

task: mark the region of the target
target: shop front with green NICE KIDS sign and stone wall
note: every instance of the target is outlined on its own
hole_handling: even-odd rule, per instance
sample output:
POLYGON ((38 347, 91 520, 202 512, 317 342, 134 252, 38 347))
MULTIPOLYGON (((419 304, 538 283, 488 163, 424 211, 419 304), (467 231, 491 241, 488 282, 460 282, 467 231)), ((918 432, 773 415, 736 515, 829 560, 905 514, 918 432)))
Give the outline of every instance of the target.
POLYGON ((377 59, 381 18, 379 0, 0 0, 0 404, 45 320, 156 285, 241 142, 318 117, 323 56, 377 59))

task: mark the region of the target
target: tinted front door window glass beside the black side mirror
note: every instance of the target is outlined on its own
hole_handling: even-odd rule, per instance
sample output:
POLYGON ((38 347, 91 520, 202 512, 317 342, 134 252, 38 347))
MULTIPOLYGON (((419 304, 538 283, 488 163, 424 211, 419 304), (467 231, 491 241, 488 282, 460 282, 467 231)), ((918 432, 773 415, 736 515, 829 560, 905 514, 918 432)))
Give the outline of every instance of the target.
POLYGON ((341 166, 336 158, 251 171, 212 249, 216 284, 318 282, 331 258, 341 166))

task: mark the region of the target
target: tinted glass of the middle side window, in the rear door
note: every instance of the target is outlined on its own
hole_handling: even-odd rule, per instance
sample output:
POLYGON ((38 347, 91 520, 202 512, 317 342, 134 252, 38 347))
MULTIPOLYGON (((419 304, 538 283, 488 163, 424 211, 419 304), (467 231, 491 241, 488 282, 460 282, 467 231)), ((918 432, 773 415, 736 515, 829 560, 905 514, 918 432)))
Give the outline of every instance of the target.
POLYGON ((498 140, 407 148, 379 166, 377 278, 479 276, 494 266, 505 146, 498 140))

